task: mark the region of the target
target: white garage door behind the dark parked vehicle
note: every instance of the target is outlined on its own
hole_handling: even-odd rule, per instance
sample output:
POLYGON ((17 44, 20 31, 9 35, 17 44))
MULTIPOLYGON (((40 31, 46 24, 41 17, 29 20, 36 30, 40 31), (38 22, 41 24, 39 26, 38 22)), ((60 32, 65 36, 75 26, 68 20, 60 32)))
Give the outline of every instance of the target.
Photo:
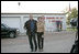
POLYGON ((1 18, 1 23, 4 23, 10 28, 18 28, 19 30, 21 29, 20 28, 20 18, 19 17, 8 17, 8 18, 2 17, 1 18))

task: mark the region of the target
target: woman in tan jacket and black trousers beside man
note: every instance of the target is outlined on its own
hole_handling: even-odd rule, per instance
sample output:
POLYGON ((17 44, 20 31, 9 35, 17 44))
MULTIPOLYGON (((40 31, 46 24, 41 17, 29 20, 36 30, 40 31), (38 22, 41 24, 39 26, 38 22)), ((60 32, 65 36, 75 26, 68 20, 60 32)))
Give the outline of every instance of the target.
POLYGON ((43 51, 43 40, 42 35, 44 34, 44 22, 42 21, 42 17, 37 18, 37 41, 38 41, 38 50, 43 51))

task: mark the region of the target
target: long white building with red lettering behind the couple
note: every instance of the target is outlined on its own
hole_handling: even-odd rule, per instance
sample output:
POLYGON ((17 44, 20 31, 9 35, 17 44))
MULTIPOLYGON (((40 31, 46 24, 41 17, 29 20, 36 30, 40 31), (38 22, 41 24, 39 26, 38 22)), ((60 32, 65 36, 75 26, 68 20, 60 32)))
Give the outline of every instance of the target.
MULTIPOLYGON (((63 30, 66 30, 66 14, 65 13, 32 13, 33 18, 37 20, 37 17, 45 17, 45 31, 56 31, 58 21, 61 22, 63 30)), ((23 29, 25 21, 30 19, 30 13, 1 13, 1 23, 4 23, 11 28, 18 28, 21 33, 24 33, 23 29)))

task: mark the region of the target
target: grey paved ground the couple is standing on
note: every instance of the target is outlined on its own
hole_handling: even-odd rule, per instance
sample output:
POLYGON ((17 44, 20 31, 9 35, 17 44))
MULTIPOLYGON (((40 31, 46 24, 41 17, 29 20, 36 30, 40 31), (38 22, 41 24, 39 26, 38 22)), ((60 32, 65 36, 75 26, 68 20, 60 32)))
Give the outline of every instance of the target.
POLYGON ((76 32, 45 32, 44 51, 31 52, 27 35, 1 39, 1 53, 70 53, 76 32))

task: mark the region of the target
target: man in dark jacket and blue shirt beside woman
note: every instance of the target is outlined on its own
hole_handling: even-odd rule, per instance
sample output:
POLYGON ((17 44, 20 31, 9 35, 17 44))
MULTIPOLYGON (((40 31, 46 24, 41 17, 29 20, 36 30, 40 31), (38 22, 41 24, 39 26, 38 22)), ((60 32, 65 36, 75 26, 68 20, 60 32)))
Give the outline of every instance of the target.
POLYGON ((37 50, 37 44, 36 44, 36 39, 35 39, 35 33, 36 33, 36 21, 33 19, 33 15, 30 14, 30 20, 25 22, 24 29, 26 29, 26 34, 29 35, 29 41, 30 41, 30 46, 31 46, 31 52, 37 50), (33 45, 34 42, 34 45, 33 45))

